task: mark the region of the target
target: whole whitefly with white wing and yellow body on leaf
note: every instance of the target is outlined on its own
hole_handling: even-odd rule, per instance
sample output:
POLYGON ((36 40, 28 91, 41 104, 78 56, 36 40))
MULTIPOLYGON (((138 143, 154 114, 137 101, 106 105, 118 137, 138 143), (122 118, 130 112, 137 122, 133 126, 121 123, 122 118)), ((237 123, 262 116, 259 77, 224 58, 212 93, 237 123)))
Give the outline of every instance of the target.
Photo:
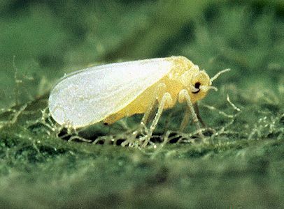
POLYGON ((164 109, 176 102, 187 102, 194 122, 198 124, 196 102, 204 98, 218 72, 211 79, 198 65, 183 56, 145 59, 99 65, 66 75, 55 84, 48 105, 60 125, 78 129, 94 123, 114 123, 125 116, 144 114, 148 144, 164 109), (155 117, 149 128, 153 111, 155 117))

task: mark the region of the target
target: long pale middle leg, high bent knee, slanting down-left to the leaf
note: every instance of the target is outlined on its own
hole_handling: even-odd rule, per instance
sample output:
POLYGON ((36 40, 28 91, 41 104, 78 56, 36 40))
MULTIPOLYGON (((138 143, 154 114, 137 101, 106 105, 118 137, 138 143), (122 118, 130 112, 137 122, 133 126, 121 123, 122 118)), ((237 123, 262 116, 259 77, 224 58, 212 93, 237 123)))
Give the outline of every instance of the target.
POLYGON ((162 115, 162 111, 164 109, 164 105, 166 103, 171 104, 172 102, 173 102, 173 99, 171 98, 171 94, 168 93, 168 92, 164 93, 164 95, 162 97, 162 100, 159 103, 159 107, 158 107, 157 113, 155 115, 155 118, 152 121, 152 124, 150 125, 148 134, 144 138, 144 142, 143 142, 142 147, 147 146, 148 142, 150 141, 150 138, 152 137, 152 132, 155 130, 155 127, 156 127, 156 125, 157 125, 157 123, 159 121, 159 118, 162 115))

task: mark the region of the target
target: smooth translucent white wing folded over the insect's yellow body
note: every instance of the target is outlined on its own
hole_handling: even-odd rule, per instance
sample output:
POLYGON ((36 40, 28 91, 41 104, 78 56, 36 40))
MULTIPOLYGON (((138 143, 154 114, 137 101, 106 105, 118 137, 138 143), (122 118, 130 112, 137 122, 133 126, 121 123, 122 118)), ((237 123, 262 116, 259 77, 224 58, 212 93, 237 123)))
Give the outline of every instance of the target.
POLYGON ((169 58, 86 68, 63 77, 52 89, 49 109, 59 124, 83 127, 104 120, 132 102, 171 68, 169 58))

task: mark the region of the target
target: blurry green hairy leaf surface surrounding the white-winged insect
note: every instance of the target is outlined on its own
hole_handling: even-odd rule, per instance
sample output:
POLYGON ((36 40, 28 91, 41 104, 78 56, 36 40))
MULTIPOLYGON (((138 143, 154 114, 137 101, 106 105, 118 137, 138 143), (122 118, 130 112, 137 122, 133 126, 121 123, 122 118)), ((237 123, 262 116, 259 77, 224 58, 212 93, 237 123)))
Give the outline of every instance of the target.
POLYGON ((0 1, 0 31, 0 208, 284 208, 283 1, 0 1), (172 55, 232 69, 200 102, 207 143, 176 135, 184 105, 157 148, 108 140, 141 116, 80 133, 97 144, 48 127, 64 73, 172 55))

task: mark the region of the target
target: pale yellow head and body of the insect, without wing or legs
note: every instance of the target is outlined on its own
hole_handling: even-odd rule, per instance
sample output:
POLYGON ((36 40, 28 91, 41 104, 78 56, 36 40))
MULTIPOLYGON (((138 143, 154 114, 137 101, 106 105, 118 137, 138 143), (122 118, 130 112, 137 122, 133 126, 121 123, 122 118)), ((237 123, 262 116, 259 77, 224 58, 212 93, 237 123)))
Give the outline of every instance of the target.
MULTIPOLYGON (((131 103, 127 104, 126 107, 111 114, 104 119, 104 123, 114 123, 125 116, 132 116, 134 114, 143 114, 147 111, 153 100, 161 102, 164 93, 171 95, 172 102, 167 102, 164 105, 164 109, 173 107, 178 101, 178 95, 181 90, 185 89, 190 95, 192 104, 201 100, 206 96, 207 91, 199 91, 198 93, 192 93, 190 85, 194 86, 195 83, 199 82, 201 86, 210 86, 210 78, 206 72, 199 70, 197 65, 194 65, 190 60, 183 56, 169 57, 174 62, 174 67, 164 75, 158 82, 146 88, 143 93, 136 97, 131 103)), ((180 98, 180 102, 184 99, 180 98)))

